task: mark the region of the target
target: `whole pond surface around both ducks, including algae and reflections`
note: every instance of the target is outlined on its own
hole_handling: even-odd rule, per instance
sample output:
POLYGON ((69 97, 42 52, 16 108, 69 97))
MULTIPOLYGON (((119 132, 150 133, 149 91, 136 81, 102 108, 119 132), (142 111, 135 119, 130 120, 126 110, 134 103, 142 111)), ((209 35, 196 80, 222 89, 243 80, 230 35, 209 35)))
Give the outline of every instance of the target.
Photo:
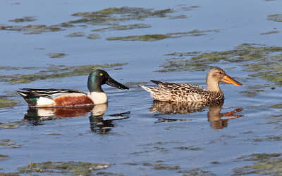
POLYGON ((0 172, 281 175, 281 6, 1 1, 0 172), (205 86, 213 66, 243 83, 221 83, 219 104, 154 102, 138 86, 205 86), (103 86, 109 103, 88 109, 29 109, 14 91, 87 91, 97 67, 130 90, 103 86))

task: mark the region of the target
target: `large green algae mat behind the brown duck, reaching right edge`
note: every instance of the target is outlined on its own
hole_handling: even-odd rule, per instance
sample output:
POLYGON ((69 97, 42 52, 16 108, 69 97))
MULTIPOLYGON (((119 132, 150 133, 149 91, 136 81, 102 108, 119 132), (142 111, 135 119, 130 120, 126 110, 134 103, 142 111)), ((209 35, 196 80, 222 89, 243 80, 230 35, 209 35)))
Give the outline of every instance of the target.
MULTIPOLYGON (((168 55, 184 57, 185 53, 170 53, 168 55)), ((157 72, 201 71, 210 68, 216 62, 247 62, 242 64, 252 77, 268 81, 282 82, 282 47, 263 46, 258 44, 241 44, 234 50, 199 53, 188 58, 173 57, 161 65, 163 69, 157 72)))

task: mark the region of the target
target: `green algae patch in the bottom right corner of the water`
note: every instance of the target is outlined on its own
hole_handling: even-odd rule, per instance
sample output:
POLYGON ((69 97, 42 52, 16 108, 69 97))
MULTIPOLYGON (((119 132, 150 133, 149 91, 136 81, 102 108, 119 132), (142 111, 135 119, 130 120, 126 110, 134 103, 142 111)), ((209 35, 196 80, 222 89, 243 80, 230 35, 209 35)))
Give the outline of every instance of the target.
POLYGON ((235 161, 254 161, 254 163, 233 168, 232 175, 281 175, 282 173, 281 154, 250 154, 248 156, 240 156, 235 161))

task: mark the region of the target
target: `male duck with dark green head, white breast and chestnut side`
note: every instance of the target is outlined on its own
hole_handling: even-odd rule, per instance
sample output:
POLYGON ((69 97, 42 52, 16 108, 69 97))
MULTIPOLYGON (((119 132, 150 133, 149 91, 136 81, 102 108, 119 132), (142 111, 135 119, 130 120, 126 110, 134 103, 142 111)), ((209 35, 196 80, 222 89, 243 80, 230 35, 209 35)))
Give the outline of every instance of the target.
POLYGON ((88 89, 90 93, 71 89, 32 89, 23 88, 17 91, 23 96, 30 107, 77 107, 103 104, 108 102, 106 93, 102 90, 102 84, 108 84, 120 89, 128 89, 112 79, 107 72, 101 69, 90 73, 88 77, 88 89))

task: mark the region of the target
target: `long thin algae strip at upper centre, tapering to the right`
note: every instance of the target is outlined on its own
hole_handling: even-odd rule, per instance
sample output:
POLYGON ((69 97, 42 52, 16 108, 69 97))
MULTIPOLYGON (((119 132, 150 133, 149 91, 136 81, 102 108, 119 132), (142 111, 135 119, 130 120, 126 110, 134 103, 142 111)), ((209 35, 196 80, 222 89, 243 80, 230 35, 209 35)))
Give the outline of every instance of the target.
POLYGON ((117 36, 117 37, 108 37, 107 40, 122 40, 122 41, 157 41, 168 38, 178 38, 181 36, 200 36, 205 35, 205 32, 219 32, 218 29, 212 30, 192 30, 189 32, 176 32, 168 34, 146 34, 140 36, 117 36))

